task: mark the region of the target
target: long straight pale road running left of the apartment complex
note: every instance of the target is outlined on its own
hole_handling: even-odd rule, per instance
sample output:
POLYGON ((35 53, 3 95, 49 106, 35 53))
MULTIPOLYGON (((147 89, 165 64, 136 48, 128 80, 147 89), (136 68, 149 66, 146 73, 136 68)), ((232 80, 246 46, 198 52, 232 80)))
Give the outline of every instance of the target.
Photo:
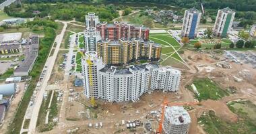
POLYGON ((42 104, 43 94, 44 94, 44 91, 46 89, 47 82, 48 82, 48 80, 51 77, 51 72, 53 70, 53 66, 55 64, 55 60, 57 58, 57 54, 58 54, 59 48, 61 46, 61 41, 63 40, 63 36, 64 36, 66 28, 67 28, 67 23, 66 22, 61 21, 61 23, 64 23, 64 26, 63 26, 63 29, 61 31, 61 34, 59 34, 55 38, 55 42, 57 43, 57 46, 55 48, 55 52, 54 52, 53 56, 49 56, 47 58, 46 64, 44 65, 44 66, 48 66, 47 67, 48 70, 46 71, 45 78, 42 81, 42 86, 40 86, 39 92, 38 92, 38 94, 36 96, 36 102, 34 104, 34 109, 33 109, 33 112, 32 112, 32 117, 30 119, 30 125, 28 127, 28 133, 29 134, 30 133, 36 133, 36 122, 37 122, 37 119, 38 119, 38 113, 39 113, 39 110, 40 110, 40 106, 42 104))

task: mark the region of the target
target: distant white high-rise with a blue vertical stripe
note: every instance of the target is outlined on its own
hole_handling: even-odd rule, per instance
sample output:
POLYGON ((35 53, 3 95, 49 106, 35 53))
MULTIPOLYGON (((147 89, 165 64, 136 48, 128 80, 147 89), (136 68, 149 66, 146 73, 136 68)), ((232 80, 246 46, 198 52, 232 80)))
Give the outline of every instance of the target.
POLYGON ((181 36, 188 38, 197 37, 197 29, 200 23, 201 14, 202 13, 195 8, 185 10, 181 36))

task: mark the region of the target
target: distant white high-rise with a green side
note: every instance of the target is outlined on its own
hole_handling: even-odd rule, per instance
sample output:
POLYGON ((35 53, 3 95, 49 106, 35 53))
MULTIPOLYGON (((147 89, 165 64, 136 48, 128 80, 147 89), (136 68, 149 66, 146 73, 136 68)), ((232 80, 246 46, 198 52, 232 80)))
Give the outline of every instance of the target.
POLYGON ((220 38, 226 38, 228 36, 232 27, 235 14, 236 13, 228 7, 218 10, 213 29, 214 36, 220 38))

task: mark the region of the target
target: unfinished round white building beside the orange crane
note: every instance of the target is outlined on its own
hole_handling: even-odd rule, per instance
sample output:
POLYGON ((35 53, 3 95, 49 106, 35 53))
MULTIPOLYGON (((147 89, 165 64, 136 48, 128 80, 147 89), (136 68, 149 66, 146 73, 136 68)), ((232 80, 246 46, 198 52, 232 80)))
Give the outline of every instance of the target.
POLYGON ((183 107, 167 107, 162 129, 165 134, 187 134, 191 118, 183 107))

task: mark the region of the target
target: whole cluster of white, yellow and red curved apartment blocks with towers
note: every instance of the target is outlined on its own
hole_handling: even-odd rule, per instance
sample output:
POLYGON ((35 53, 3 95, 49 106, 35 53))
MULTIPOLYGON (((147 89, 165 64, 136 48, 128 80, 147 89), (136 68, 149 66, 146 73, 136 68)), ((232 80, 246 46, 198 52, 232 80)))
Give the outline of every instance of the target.
POLYGON ((179 70, 157 64, 127 66, 139 60, 160 60, 161 46, 149 40, 149 33, 150 29, 142 25, 119 22, 87 27, 84 31, 86 56, 82 59, 87 98, 136 101, 148 90, 178 90, 179 70))

